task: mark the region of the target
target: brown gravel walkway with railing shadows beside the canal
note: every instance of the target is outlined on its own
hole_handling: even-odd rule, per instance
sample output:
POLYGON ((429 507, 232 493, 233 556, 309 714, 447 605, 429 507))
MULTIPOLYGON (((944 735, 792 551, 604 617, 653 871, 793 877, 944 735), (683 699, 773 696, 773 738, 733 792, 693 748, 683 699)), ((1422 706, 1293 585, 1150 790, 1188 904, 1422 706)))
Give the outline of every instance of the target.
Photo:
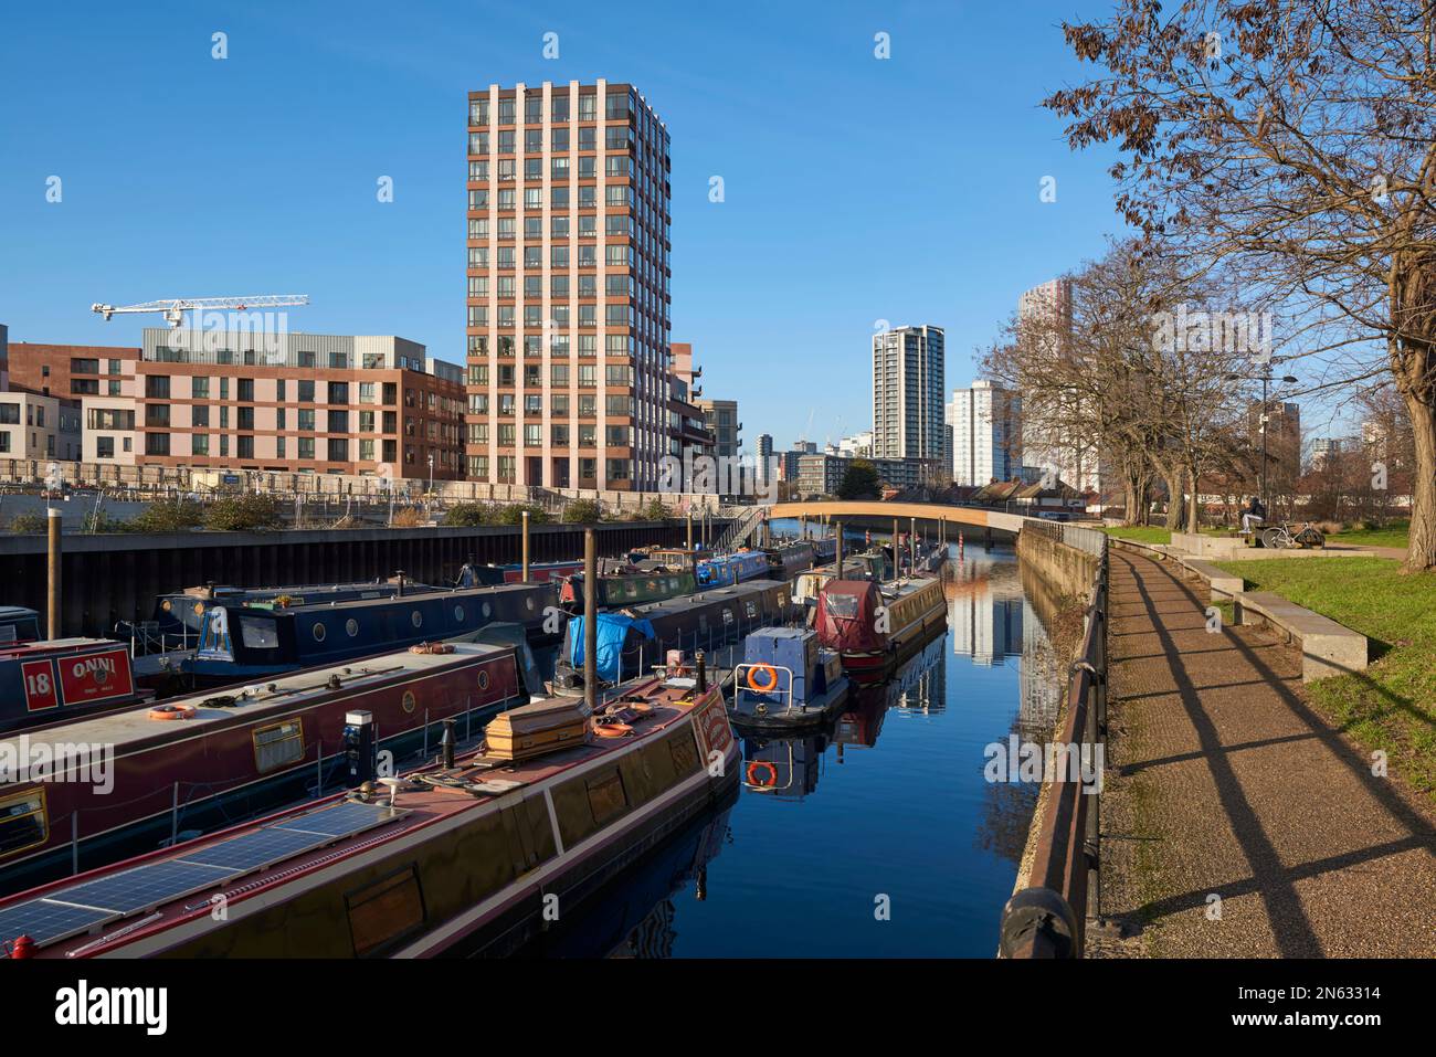
POLYGON ((1103 912, 1159 956, 1436 955, 1436 811, 1307 704, 1294 649, 1209 633, 1159 562, 1110 572, 1103 912))

